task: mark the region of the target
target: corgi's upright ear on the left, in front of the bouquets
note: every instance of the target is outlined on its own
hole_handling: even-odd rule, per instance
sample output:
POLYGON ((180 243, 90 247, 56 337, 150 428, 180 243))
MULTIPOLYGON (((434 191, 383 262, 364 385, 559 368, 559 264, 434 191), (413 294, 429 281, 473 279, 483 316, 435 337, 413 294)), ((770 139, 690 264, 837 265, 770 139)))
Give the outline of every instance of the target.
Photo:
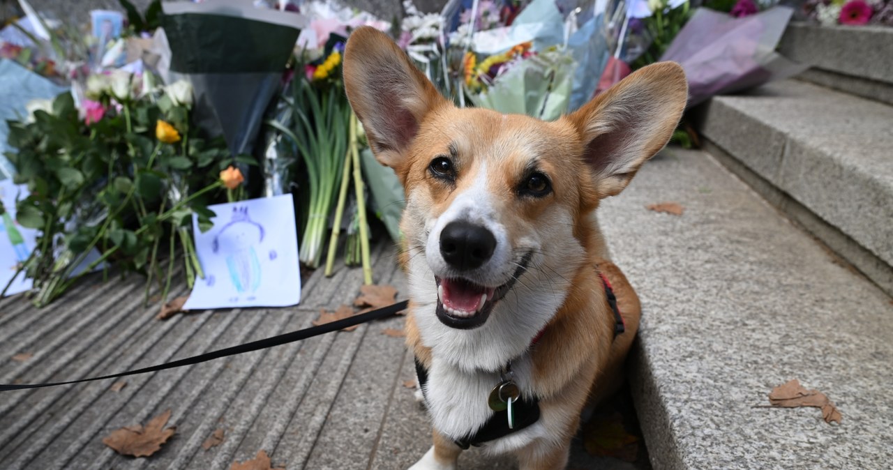
POLYGON ((344 86, 375 157, 397 174, 421 120, 448 104, 394 41, 371 27, 347 40, 344 86))

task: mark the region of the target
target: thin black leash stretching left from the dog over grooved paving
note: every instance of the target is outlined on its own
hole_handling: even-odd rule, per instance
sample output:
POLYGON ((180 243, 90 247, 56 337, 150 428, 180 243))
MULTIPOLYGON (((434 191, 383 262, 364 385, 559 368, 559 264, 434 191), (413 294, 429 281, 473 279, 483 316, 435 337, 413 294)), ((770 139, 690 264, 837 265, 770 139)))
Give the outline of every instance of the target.
POLYGON ((326 323, 320 326, 311 326, 310 328, 305 328, 303 330, 293 331, 291 333, 280 334, 277 336, 272 336, 271 338, 266 338, 263 340, 258 340, 255 342, 246 342, 245 344, 239 344, 238 346, 233 346, 231 348, 225 348, 222 350, 214 350, 211 352, 207 352, 204 354, 200 354, 198 356, 193 356, 192 358, 187 359, 179 359, 171 362, 167 362, 164 364, 159 364, 157 366, 152 367, 144 367, 137 370, 130 370, 128 372, 121 372, 120 374, 113 375, 103 375, 101 377, 90 377, 86 379, 80 380, 72 380, 69 382, 56 382, 56 383, 19 383, 19 384, 0 384, 0 392, 9 392, 11 390, 25 390, 25 389, 36 389, 42 387, 54 387, 56 385, 68 385, 70 383, 81 383, 81 382, 92 382, 94 380, 104 380, 111 379, 115 377, 123 377, 125 375, 136 375, 136 374, 146 374, 148 372, 157 372, 159 370, 171 369, 174 367, 183 367, 183 366, 192 366, 193 364, 198 364, 200 362, 206 362, 212 359, 220 359, 225 358, 227 356, 235 356, 237 354, 242 354, 243 352, 251 352, 253 350, 264 350, 267 348, 272 348, 273 346, 280 346, 282 344, 286 344, 288 342, 296 342, 305 340, 307 338, 312 338, 313 336, 319 336, 320 334, 327 334, 333 331, 338 331, 344 329, 348 326, 360 325, 366 322, 370 322, 372 320, 377 320, 384 317, 390 317, 392 315, 396 315, 397 312, 406 309, 406 306, 409 305, 409 301, 400 301, 395 303, 394 305, 389 305, 388 307, 383 307, 381 309, 374 309, 369 312, 355 315, 353 317, 346 317, 341 320, 333 321, 331 323, 326 323))

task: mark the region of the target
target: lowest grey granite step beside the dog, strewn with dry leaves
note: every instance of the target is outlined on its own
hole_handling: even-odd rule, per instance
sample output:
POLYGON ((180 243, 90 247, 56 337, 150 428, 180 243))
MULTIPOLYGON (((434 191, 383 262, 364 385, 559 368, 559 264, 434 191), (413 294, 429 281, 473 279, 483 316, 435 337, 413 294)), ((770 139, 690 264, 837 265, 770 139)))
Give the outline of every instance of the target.
POLYGON ((631 388, 654 468, 889 467, 887 294, 708 153, 664 151, 599 220, 642 301, 631 388), (645 207, 668 201, 683 214, 645 207), (764 408, 794 378, 842 423, 764 408))

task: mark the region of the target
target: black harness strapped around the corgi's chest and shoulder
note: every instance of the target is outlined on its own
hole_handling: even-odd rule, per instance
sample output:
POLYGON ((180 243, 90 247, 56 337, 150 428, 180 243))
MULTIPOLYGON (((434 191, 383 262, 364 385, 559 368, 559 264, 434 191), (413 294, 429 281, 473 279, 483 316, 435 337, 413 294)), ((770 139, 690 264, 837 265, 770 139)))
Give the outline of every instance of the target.
MULTIPOLYGON (((611 283, 608 282, 605 275, 601 276, 602 284, 605 285, 605 296, 608 305, 613 311, 614 338, 616 339, 618 334, 622 334, 626 331, 626 324, 620 314, 620 309, 617 308, 617 297, 614 296, 611 283)), ((543 332, 537 334, 533 340, 533 344, 536 344, 542 334, 543 332)), ((425 385, 428 383, 428 369, 421 364, 419 358, 415 358, 415 375, 419 379, 419 389, 421 390, 421 394, 422 396, 425 396, 425 385)), ((428 400, 427 396, 425 396, 425 400, 428 400)), ((522 394, 519 400, 514 403, 514 416, 514 428, 510 429, 508 427, 508 411, 494 411, 493 415, 491 415, 487 422, 480 426, 477 431, 468 433, 468 435, 463 438, 456 440, 455 444, 462 449, 468 449, 471 446, 480 447, 488 441, 496 441, 501 437, 517 433, 518 431, 533 425, 539 420, 539 399, 537 397, 528 398, 522 394)))

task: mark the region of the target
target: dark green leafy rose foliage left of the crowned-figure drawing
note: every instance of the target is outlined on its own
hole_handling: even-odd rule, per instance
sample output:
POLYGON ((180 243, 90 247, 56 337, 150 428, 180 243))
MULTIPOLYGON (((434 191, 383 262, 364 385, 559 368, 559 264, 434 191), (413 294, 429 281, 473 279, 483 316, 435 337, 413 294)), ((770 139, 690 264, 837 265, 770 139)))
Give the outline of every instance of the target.
MULTIPOLYGON (((221 137, 205 138, 189 125, 186 106, 168 100, 162 110, 160 93, 130 99, 121 111, 115 111, 110 96, 99 96, 107 109, 90 125, 79 117, 69 93, 54 99, 52 112, 8 121, 14 152, 6 156, 16 169, 15 182, 26 184, 30 193, 17 202, 17 219, 40 230, 38 247, 23 264, 35 281, 38 305, 70 287, 73 269, 94 249, 100 260, 123 271, 162 281, 158 245, 172 247, 179 240, 190 252, 193 213, 203 229, 211 227, 213 212, 206 205, 219 202, 219 171, 232 158, 221 137), (179 142, 155 138, 158 120, 177 128, 179 142)), ((200 273, 194 248, 191 253, 187 271, 200 273)))

